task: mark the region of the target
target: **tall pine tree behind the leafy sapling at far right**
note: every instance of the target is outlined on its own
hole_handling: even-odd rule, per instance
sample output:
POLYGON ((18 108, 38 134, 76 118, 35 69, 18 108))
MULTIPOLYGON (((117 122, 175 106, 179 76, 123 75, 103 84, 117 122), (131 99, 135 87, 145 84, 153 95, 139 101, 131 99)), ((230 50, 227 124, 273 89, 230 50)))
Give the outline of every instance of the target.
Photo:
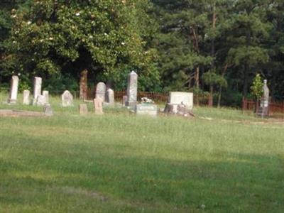
POLYGON ((230 31, 227 40, 231 43, 227 60, 242 70, 243 96, 248 93, 251 70, 261 70, 269 60, 266 39, 272 28, 268 21, 268 0, 240 0, 234 3, 234 12, 228 20, 230 31))

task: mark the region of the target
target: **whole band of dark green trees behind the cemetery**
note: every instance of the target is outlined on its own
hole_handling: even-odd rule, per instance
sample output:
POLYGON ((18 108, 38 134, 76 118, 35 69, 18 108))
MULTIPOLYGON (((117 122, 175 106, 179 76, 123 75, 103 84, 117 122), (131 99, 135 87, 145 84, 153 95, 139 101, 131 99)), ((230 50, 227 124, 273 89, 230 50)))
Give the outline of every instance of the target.
POLYGON ((284 98, 283 0, 1 1, 0 81, 41 75, 51 91, 89 84, 194 91, 237 106, 257 73, 284 98), (40 2, 40 3, 39 3, 40 2), (13 72, 13 73, 12 73, 13 72))

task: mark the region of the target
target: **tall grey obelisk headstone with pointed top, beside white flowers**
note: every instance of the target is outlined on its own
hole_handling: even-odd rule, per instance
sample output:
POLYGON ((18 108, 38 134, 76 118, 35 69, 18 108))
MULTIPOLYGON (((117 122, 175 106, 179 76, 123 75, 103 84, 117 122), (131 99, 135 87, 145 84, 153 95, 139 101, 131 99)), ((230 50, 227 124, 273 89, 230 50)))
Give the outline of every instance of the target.
POLYGON ((138 75, 136 72, 132 71, 129 74, 129 80, 127 84, 127 102, 126 106, 135 108, 137 104, 137 80, 138 80, 138 75))

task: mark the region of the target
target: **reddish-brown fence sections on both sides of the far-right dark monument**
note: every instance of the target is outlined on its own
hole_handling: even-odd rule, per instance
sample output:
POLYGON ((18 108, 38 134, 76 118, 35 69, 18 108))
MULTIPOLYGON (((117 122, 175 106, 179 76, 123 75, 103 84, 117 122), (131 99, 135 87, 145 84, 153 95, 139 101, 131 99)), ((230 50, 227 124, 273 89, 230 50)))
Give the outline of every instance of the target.
MULTIPOLYGON (((243 110, 257 111, 259 104, 252 99, 243 99, 243 110)), ((271 100, 268 107, 269 114, 284 114, 284 102, 275 102, 271 100)))

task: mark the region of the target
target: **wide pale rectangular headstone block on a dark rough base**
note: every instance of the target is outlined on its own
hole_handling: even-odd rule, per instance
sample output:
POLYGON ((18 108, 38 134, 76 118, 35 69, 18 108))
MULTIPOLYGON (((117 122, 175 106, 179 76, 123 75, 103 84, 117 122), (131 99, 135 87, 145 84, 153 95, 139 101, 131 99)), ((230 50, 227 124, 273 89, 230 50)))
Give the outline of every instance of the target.
POLYGON ((193 109, 192 92, 170 92, 169 104, 184 104, 187 109, 193 109))

